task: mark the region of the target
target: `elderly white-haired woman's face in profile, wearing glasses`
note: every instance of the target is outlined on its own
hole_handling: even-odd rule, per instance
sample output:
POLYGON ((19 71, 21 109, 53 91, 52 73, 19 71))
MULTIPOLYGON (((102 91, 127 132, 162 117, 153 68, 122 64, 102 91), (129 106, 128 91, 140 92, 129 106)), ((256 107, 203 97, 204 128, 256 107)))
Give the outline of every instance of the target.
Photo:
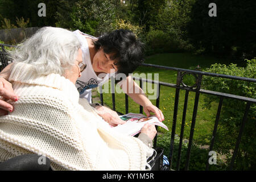
POLYGON ((82 63, 82 50, 79 49, 77 53, 77 57, 75 60, 74 65, 72 66, 71 69, 67 69, 65 71, 64 77, 73 82, 73 84, 76 83, 77 78, 81 76, 80 68, 79 68, 79 63, 82 63))

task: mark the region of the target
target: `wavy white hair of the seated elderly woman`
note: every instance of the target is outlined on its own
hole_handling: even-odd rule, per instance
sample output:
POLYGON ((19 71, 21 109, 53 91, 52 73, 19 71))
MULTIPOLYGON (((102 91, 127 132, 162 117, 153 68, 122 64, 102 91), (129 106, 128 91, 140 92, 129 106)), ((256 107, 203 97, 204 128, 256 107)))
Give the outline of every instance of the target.
POLYGON ((9 51, 14 62, 34 66, 38 75, 64 75, 74 65, 81 43, 71 31, 56 27, 40 28, 31 38, 9 51))

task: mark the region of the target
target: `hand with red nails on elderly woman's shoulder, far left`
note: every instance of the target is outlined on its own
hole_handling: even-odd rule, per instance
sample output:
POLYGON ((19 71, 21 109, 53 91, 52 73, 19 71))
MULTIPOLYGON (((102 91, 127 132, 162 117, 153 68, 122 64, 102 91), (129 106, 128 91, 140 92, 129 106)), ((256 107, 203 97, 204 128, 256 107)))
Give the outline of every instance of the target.
POLYGON ((13 105, 6 101, 18 101, 18 96, 14 94, 11 83, 3 77, 0 77, 0 96, 0 115, 6 115, 8 111, 12 112, 14 110, 13 105))

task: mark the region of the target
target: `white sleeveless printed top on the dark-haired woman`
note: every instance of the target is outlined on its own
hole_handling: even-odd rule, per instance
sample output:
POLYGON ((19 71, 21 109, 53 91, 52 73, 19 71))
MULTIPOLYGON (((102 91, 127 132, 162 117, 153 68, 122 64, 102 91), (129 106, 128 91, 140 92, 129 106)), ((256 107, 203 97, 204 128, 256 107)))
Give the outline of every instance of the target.
MULTIPOLYGON (((89 103, 92 103, 92 89, 103 85, 110 78, 110 73, 105 73, 105 77, 98 77, 93 70, 92 62, 90 60, 90 52, 86 37, 90 39, 97 39, 94 36, 84 34, 80 30, 73 31, 73 33, 80 40, 82 45, 82 63, 87 64, 85 70, 81 73, 76 81, 76 88, 79 91, 80 98, 86 98, 89 103)), ((113 73, 112 73, 113 74, 113 73)), ((104 74, 101 74, 101 76, 104 74)))

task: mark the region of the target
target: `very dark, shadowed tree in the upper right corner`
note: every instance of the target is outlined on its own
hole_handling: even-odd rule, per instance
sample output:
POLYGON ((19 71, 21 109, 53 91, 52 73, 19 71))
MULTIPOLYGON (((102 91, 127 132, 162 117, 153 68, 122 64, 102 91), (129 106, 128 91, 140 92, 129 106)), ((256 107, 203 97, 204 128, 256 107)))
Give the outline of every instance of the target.
POLYGON ((192 7, 188 38, 206 52, 229 55, 232 49, 255 56, 256 1, 199 1, 192 7), (208 15, 209 4, 216 3, 217 16, 208 15))

